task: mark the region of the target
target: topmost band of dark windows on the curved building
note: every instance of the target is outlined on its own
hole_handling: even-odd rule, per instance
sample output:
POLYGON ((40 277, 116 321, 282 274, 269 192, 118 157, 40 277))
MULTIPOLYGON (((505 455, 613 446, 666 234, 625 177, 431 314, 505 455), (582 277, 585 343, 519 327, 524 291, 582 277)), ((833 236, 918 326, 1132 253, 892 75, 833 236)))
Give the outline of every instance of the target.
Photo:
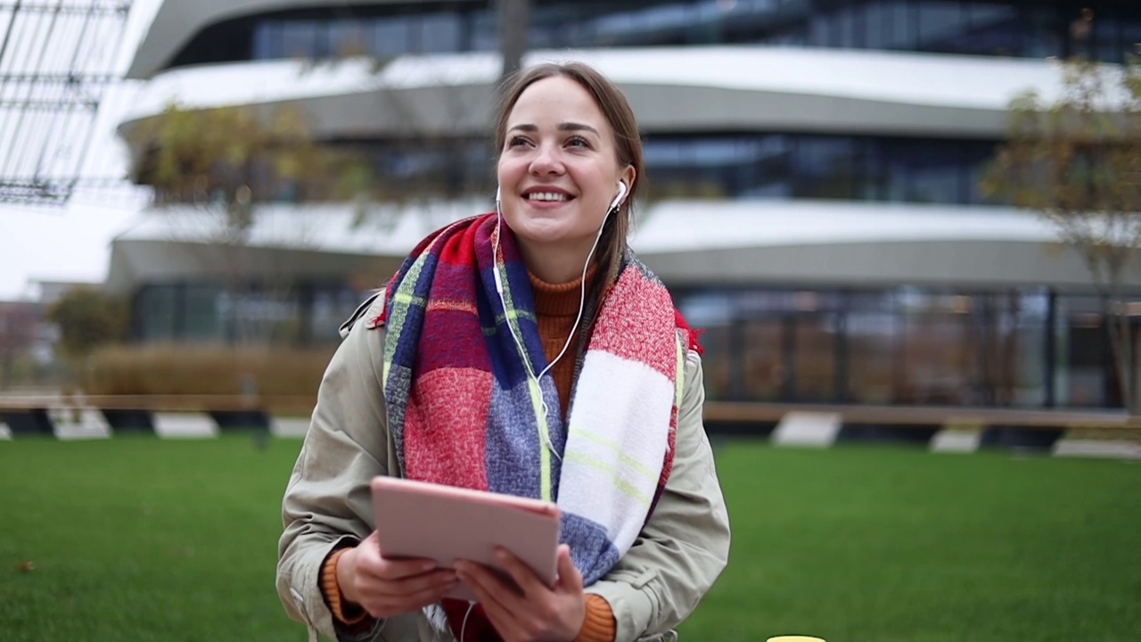
MULTIPOLYGON (((725 1, 598 0, 534 3, 534 48, 718 43, 933 51, 1044 58, 1086 54, 1120 62, 1139 40, 1141 5, 1099 0, 725 1), (1092 19, 1083 11, 1090 9, 1092 19)), ((499 48, 489 3, 339 6, 242 17, 203 30, 172 66, 253 58, 363 53, 486 51, 499 48), (346 18, 346 13, 356 16, 346 18), (354 23, 354 29, 347 25, 354 23), (276 34, 274 33, 276 31, 276 34)))

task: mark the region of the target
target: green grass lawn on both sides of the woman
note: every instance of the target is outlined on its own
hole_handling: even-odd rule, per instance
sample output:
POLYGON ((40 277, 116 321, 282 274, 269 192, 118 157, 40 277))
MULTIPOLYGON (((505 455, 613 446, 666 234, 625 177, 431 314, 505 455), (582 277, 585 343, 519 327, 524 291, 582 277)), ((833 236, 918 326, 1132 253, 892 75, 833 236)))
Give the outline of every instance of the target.
MULTIPOLYGON (((304 641, 273 587, 299 446, 0 442, 0 640, 304 641)), ((1141 639, 1141 465, 728 442, 718 466, 731 560, 683 640, 1141 639)))

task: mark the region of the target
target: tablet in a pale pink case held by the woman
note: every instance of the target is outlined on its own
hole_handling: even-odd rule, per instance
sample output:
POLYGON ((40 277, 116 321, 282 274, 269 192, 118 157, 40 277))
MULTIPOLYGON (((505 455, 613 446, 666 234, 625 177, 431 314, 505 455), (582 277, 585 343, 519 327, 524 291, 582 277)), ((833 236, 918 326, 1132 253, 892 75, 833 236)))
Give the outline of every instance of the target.
MULTIPOLYGON (((387 557, 426 557, 439 568, 470 560, 502 570, 493 557, 495 547, 502 546, 541 580, 555 584, 559 546, 555 504, 378 476, 372 480, 372 507, 380 549, 387 557)), ((476 599, 462 581, 447 596, 476 599)))

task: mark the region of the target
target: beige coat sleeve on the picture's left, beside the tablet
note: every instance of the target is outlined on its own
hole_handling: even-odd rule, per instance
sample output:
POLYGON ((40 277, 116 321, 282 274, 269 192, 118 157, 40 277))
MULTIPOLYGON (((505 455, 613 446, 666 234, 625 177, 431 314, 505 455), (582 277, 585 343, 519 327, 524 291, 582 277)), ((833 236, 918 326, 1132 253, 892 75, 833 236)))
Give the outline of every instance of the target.
MULTIPOLYGON (((378 304, 372 310, 379 314, 378 304)), ((358 315, 359 315, 358 311, 358 315)), ((388 424, 381 394, 382 330, 354 323, 330 361, 309 431, 282 500, 284 531, 277 545, 277 595, 289 616, 332 640, 377 637, 382 623, 349 632, 321 592, 321 569, 337 548, 354 546, 373 529, 370 481, 386 475, 388 424)))

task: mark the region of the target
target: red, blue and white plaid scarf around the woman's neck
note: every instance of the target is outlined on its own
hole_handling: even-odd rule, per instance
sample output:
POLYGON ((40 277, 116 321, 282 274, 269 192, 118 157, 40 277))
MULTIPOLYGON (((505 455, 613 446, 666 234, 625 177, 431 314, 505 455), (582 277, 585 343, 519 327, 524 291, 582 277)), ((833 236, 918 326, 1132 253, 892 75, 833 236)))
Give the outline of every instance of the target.
POLYGON ((407 479, 557 503, 589 586, 633 544, 670 474, 686 345, 670 294, 628 252, 564 423, 553 378, 524 366, 548 363, 507 226, 493 256, 499 228, 494 214, 444 227, 388 283, 389 431, 407 479))

